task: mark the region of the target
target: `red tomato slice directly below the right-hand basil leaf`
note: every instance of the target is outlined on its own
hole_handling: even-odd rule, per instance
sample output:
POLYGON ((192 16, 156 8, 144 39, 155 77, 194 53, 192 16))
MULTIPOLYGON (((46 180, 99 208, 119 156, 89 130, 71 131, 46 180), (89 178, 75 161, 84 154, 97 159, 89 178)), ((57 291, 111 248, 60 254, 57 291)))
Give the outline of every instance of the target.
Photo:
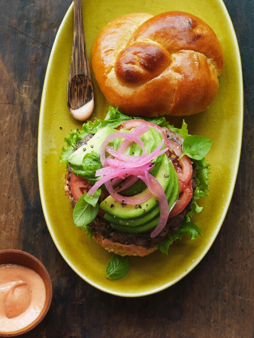
MULTIPOLYGON (((176 142, 168 141, 168 146, 173 150, 178 158, 182 155, 183 149, 176 142)), ((191 179, 192 165, 187 155, 184 155, 181 160, 179 160, 179 164, 181 165, 182 169, 175 166, 175 170, 179 179, 179 192, 182 192, 191 179)))

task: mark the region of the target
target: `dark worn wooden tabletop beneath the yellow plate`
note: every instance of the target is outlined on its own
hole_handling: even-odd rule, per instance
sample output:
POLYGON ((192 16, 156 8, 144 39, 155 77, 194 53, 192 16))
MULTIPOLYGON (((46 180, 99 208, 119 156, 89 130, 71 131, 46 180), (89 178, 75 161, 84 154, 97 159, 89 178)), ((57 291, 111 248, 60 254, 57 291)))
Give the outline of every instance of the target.
POLYGON ((241 51, 244 138, 235 191, 213 246, 171 288, 141 298, 103 293, 65 263, 43 217, 37 174, 42 86, 71 1, 0 1, 0 249, 28 251, 49 271, 53 300, 26 337, 254 337, 254 5, 225 0, 241 51), (49 259, 50 258, 50 259, 49 259))

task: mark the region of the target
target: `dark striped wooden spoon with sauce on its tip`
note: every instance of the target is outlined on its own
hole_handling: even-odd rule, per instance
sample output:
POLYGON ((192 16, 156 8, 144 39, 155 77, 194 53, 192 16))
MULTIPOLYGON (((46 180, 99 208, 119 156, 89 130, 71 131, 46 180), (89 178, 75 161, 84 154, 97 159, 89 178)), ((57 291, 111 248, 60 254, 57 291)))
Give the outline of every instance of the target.
POLYGON ((94 107, 92 78, 86 54, 82 2, 74 0, 74 31, 67 87, 67 105, 72 117, 84 121, 94 107))

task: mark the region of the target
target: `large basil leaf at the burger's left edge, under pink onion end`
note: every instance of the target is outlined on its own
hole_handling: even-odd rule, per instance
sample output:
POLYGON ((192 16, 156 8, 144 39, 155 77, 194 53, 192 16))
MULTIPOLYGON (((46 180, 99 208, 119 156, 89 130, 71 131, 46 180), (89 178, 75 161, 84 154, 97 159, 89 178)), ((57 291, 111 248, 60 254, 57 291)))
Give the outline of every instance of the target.
POLYGON ((99 211, 99 205, 93 207, 84 200, 84 195, 77 201, 73 210, 73 221, 76 226, 85 227, 96 218, 99 211))

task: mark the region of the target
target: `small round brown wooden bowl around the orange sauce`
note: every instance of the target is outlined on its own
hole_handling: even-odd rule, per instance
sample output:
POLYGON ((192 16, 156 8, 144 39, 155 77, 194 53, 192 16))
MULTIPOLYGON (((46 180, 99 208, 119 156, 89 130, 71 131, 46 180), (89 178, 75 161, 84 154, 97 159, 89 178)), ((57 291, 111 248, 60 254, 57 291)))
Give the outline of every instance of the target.
POLYGON ((0 331, 0 337, 15 337, 34 329, 46 316, 52 300, 52 284, 49 274, 37 258, 21 250, 0 250, 0 265, 8 263, 22 265, 37 272, 45 284, 46 300, 41 313, 33 322, 17 331, 9 333, 0 331))

